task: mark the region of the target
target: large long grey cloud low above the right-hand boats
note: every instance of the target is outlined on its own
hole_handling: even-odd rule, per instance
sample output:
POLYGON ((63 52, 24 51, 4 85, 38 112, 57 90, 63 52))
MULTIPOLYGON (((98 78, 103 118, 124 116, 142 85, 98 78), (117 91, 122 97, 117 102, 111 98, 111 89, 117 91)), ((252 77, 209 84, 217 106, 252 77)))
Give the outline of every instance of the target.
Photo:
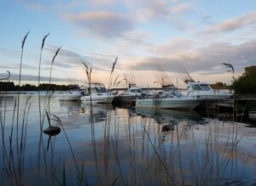
MULTIPOLYGON (((131 70, 168 70, 176 72, 178 66, 184 66, 189 72, 208 71, 217 74, 216 66, 231 63, 236 71, 244 66, 256 64, 256 40, 232 45, 229 42, 215 42, 206 47, 196 48, 192 52, 179 52, 170 55, 153 55, 134 59, 125 63, 131 70)), ((219 70, 223 73, 225 69, 219 70)))

